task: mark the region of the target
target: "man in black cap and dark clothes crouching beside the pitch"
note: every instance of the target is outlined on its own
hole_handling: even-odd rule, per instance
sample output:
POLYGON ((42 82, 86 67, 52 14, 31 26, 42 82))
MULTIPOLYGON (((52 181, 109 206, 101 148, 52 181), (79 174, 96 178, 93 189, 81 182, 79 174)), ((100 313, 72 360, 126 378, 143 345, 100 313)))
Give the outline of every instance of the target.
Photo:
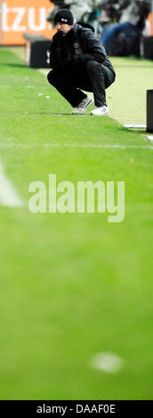
POLYGON ((57 33, 50 47, 49 83, 76 108, 73 114, 84 114, 93 105, 93 99, 85 94, 93 92, 95 109, 91 115, 109 115, 105 90, 115 81, 116 74, 93 28, 76 23, 67 9, 56 13, 54 25, 57 33))

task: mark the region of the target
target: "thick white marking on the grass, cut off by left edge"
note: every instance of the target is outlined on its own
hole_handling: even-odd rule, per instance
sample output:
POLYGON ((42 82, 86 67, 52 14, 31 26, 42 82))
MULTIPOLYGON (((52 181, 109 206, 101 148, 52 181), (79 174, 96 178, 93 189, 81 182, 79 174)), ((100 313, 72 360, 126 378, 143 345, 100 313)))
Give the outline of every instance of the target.
POLYGON ((15 189, 12 186, 11 181, 9 181, 5 175, 3 166, 0 164, 0 205, 10 206, 10 207, 21 207, 23 202, 20 197, 17 195, 15 189))

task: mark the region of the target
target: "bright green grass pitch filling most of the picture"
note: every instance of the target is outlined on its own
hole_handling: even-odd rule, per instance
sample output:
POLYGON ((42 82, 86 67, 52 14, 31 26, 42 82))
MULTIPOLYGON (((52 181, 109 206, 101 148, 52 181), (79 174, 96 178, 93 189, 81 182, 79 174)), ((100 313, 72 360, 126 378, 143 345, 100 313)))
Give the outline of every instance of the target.
MULTIPOLYGON (((8 50, 0 61, 0 160, 25 202, 0 207, 0 398, 152 399, 151 144, 111 118, 71 116, 42 74, 8 50), (109 224, 108 213, 29 213, 28 185, 47 187, 49 173, 75 185, 125 181, 125 221, 109 224), (123 358, 122 370, 93 370, 98 352, 123 358)), ((143 78, 149 63, 142 62, 143 78)), ((130 60, 117 65, 128 79, 130 60)))

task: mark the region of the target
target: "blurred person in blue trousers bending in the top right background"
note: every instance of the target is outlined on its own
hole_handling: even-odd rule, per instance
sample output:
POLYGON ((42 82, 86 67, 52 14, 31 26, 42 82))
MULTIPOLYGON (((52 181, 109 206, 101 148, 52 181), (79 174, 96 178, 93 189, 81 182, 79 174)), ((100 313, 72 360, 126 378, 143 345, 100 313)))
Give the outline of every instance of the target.
POLYGON ((119 23, 115 23, 106 28, 101 36, 101 42, 104 44, 107 52, 109 47, 118 34, 124 34, 125 37, 139 35, 145 26, 145 21, 150 12, 149 0, 123 1, 121 3, 121 18, 119 23))

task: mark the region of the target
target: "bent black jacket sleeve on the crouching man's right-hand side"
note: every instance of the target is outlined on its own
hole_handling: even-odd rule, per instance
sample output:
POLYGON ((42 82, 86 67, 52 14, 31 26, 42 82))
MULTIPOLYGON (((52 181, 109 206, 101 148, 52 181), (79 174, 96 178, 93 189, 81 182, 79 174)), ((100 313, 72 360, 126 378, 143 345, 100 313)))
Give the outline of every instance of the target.
POLYGON ((106 59, 106 51, 99 39, 94 36, 93 32, 87 31, 83 35, 85 43, 85 53, 76 54, 74 57, 76 64, 85 63, 88 60, 96 60, 102 63, 106 59))

